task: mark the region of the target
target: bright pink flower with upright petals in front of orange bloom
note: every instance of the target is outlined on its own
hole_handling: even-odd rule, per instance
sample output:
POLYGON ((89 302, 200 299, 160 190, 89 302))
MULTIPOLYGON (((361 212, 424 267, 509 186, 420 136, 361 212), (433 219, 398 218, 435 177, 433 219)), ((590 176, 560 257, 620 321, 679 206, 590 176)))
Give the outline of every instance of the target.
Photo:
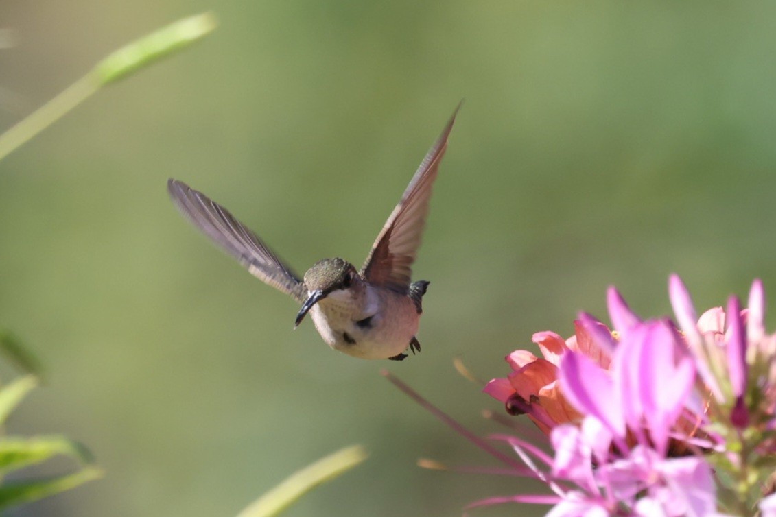
POLYGON ((609 369, 571 350, 559 365, 563 396, 586 416, 581 427, 553 429, 553 473, 580 488, 576 504, 580 494, 598 506, 601 498, 608 501, 606 515, 622 508, 710 515, 716 509, 711 468, 702 457, 668 455, 695 386, 695 364, 670 322, 642 322, 613 289, 608 298, 612 320, 622 326, 609 369))

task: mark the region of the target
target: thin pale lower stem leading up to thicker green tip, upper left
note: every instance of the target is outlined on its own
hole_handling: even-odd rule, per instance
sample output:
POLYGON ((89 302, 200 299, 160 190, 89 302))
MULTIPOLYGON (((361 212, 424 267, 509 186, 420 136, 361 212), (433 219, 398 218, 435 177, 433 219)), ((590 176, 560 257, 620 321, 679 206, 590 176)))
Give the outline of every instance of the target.
POLYGON ((57 122, 62 115, 84 102, 98 88, 99 79, 95 74, 86 74, 35 112, 20 120, 16 126, 0 135, 0 160, 43 129, 57 122))

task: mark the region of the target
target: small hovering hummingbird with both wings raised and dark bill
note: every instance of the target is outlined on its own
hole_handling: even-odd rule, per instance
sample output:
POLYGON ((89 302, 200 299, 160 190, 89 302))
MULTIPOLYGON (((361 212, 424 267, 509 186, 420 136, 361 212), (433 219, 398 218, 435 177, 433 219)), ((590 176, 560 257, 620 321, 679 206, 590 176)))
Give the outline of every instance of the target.
POLYGON ((426 153, 360 271, 334 257, 319 260, 299 277, 256 233, 202 192, 172 178, 168 192, 183 215, 214 243, 259 280, 302 305, 294 329, 309 312, 332 349, 362 359, 404 360, 407 349, 413 354, 421 350, 416 333, 429 282, 411 281, 411 266, 459 108, 426 153))

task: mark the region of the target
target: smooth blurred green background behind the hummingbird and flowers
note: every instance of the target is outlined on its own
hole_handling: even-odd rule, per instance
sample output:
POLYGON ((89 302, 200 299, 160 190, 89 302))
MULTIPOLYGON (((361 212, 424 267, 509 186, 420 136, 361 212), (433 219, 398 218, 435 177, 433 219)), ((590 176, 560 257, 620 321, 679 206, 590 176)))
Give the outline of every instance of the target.
POLYGON ((771 2, 2 0, 0 127, 208 9, 208 39, 0 163, 0 323, 49 371, 11 431, 66 433, 107 471, 16 515, 234 515, 350 443, 371 458, 289 515, 460 515, 535 487, 415 467, 495 463, 381 368, 487 434, 501 407, 456 356, 503 376, 532 333, 604 317, 609 284, 666 314, 673 271, 701 307, 753 277, 776 292, 771 2), (168 201, 168 177, 192 184, 300 272, 360 264, 461 98, 404 363, 292 332, 296 305, 168 201))

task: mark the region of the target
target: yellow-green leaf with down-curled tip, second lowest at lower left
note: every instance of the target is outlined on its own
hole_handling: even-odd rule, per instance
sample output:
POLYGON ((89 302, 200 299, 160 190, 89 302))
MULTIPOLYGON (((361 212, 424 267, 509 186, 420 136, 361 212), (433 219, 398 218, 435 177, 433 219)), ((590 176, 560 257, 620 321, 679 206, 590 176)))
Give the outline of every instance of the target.
POLYGON ((81 443, 64 436, 0 439, 0 474, 39 464, 54 456, 68 456, 79 464, 90 464, 92 453, 81 443))

